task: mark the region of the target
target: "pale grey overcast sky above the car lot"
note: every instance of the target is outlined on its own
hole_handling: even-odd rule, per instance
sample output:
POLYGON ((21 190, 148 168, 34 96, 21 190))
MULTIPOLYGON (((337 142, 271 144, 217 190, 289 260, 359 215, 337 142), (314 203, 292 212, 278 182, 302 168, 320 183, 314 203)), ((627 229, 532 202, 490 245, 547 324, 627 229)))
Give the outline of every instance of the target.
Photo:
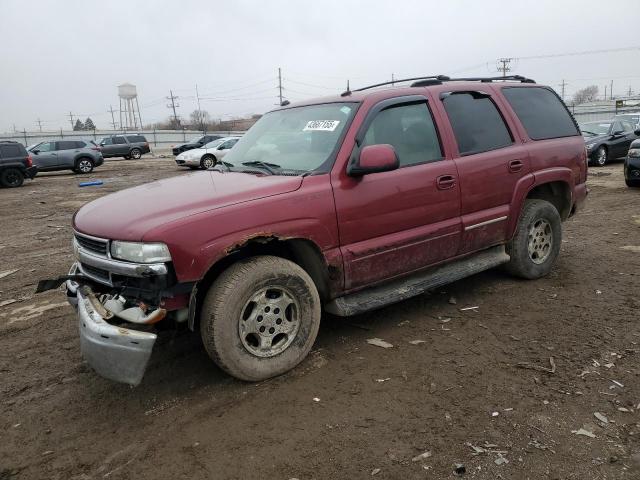
MULTIPOLYGON (((0 131, 108 128, 117 85, 137 86, 145 124, 196 108, 213 118, 428 74, 495 75, 499 57, 640 47, 638 0, 0 0, 0 131)), ((559 90, 614 81, 640 93, 640 49, 522 59, 514 73, 559 90)), ((116 115, 117 116, 117 115, 116 115)))

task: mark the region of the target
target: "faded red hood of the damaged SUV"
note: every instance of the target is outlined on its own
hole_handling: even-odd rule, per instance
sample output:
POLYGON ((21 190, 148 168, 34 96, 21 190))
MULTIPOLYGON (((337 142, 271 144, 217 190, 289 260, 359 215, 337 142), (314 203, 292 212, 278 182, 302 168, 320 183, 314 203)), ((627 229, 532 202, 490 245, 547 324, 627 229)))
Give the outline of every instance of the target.
POLYGON ((141 241, 166 223, 209 210, 300 188, 302 177, 204 171, 167 178, 105 195, 74 216, 79 232, 115 240, 141 241))

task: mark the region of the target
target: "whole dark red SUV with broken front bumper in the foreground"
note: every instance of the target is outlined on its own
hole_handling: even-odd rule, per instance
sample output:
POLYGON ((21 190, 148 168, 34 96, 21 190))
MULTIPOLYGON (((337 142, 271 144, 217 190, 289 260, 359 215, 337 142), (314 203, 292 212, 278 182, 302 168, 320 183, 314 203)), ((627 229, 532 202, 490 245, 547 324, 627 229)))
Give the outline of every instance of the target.
POLYGON ((81 208, 57 282, 89 364, 138 384, 160 322, 184 323, 222 369, 262 380, 305 358, 323 309, 361 313, 498 265, 546 275, 587 195, 565 105, 519 76, 409 80, 285 105, 213 170, 81 208))

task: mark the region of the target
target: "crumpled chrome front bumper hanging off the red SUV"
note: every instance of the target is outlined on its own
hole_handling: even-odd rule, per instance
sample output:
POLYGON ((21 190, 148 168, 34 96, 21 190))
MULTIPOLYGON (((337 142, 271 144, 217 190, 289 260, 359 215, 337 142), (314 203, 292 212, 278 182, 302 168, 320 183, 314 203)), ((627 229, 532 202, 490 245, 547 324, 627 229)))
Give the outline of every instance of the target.
POLYGON ((144 376, 157 335, 108 323, 97 312, 99 308, 93 302, 98 300, 88 287, 79 288, 75 282, 69 281, 67 296, 72 305, 75 298, 80 349, 85 360, 105 378, 138 385, 144 376))

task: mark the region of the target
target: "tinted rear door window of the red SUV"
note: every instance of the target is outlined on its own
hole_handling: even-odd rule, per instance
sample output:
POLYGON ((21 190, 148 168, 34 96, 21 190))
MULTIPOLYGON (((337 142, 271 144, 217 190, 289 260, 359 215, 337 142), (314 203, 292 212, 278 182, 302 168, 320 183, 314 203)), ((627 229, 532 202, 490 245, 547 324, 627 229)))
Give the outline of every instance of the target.
POLYGON ((484 95, 460 92, 443 100, 460 155, 487 152, 513 143, 493 101, 484 95))

